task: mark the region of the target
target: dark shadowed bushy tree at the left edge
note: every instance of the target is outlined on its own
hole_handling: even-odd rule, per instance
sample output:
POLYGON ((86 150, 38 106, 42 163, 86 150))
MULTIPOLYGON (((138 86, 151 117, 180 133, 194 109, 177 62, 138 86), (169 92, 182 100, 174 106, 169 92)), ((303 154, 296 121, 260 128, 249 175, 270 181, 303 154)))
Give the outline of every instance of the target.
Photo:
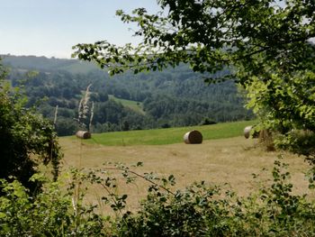
POLYGON ((40 182, 30 178, 40 164, 51 163, 57 179, 60 147, 49 121, 23 106, 23 96, 4 82, 6 74, 0 69, 0 178, 16 178, 34 194, 40 182))

